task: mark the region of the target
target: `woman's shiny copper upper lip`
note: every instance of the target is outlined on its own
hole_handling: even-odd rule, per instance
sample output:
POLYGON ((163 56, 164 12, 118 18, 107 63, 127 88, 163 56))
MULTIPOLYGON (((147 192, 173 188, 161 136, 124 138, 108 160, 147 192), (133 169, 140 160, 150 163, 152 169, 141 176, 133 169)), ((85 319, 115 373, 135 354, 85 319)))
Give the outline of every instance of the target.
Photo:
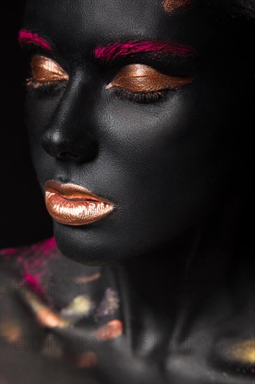
POLYGON ((47 180, 47 182, 45 182, 45 191, 59 193, 59 195, 68 200, 91 200, 112 205, 112 203, 105 198, 101 198, 84 188, 84 186, 79 186, 77 184, 61 184, 55 180, 47 180))

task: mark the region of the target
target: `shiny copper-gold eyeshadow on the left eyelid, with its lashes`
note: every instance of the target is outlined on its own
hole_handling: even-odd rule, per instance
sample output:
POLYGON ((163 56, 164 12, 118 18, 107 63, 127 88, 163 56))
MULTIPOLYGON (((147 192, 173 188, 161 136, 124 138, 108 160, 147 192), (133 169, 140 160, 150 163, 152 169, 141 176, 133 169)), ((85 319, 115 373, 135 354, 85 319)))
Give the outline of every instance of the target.
POLYGON ((53 59, 35 56, 31 59, 32 78, 26 80, 28 87, 38 88, 42 84, 68 81, 69 76, 53 59))

